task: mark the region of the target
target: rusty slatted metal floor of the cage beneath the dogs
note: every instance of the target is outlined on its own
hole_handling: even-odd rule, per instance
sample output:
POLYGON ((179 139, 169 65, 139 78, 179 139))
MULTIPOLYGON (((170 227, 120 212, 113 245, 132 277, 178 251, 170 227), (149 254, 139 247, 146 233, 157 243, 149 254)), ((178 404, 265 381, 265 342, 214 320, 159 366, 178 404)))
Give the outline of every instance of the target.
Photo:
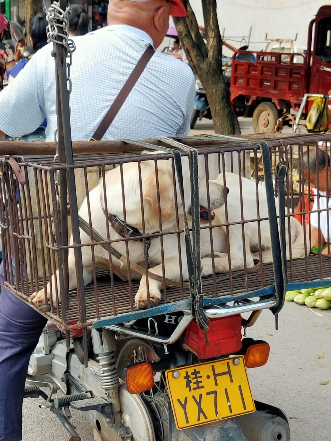
MULTIPOLYGON (((233 299, 238 295, 247 292, 256 292, 256 295, 263 295, 259 290, 274 285, 274 275, 272 264, 264 264, 262 268, 263 283, 261 283, 261 270, 257 269, 246 276, 242 272, 233 273, 233 299)), ((305 281, 320 280, 331 277, 331 258, 319 256, 308 256, 307 260, 298 259, 288 262, 289 283, 299 284, 305 281)), ((130 299, 129 284, 127 281, 114 279, 114 293, 112 295, 110 277, 103 273, 102 277, 98 277, 98 294, 94 294, 93 282, 85 287, 85 303, 87 311, 87 321, 95 321, 99 318, 112 317, 114 315, 131 314, 139 311, 132 305, 134 295, 138 290, 139 281, 132 281, 132 302, 130 299), (97 313, 98 302, 98 313, 97 313), (114 308, 116 305, 116 310, 114 308)), ((230 283, 228 274, 217 274, 215 277, 217 286, 217 301, 220 298, 229 296, 230 283), (227 280, 226 280, 227 279, 227 280)), ((26 286, 26 285, 25 285, 26 286)), ((293 288, 294 289, 294 288, 293 288)), ((214 280, 212 277, 203 278, 203 294, 209 299, 215 298, 214 280)), ((184 288, 182 292, 178 288, 167 288, 166 302, 165 296, 162 294, 160 304, 176 302, 183 299, 189 299, 189 290, 184 288)), ((60 318, 61 319, 61 318, 60 318)), ((67 321, 79 321, 79 306, 77 291, 69 294, 69 308, 67 310, 67 321)))

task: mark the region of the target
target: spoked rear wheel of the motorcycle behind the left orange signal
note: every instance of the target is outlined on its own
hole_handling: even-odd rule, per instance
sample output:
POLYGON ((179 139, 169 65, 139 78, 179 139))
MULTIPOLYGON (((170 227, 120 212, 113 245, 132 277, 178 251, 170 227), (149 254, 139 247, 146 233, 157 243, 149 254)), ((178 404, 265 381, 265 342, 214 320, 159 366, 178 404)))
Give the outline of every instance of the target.
MULTIPOLYGON (((117 357, 117 369, 122 375, 125 365, 148 362, 155 363, 159 357, 152 345, 144 340, 128 340, 117 357)), ((122 378, 124 380, 124 378, 122 378)), ((169 437, 169 395, 163 372, 154 373, 154 387, 140 394, 150 410, 153 418, 157 441, 164 441, 169 437)))

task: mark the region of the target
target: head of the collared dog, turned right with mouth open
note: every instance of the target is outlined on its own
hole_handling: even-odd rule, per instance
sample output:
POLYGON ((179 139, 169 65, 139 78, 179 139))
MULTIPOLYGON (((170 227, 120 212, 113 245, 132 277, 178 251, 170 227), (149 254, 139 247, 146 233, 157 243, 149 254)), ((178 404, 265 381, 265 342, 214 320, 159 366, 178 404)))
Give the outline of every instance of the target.
MULTIPOLYGON (((182 172, 185 209, 190 219, 191 178, 187 157, 182 157, 182 172)), ((180 186, 177 176, 174 179, 171 159, 141 161, 140 165, 137 162, 123 164, 122 174, 120 168, 110 172, 108 185, 111 189, 107 196, 109 213, 124 219, 124 188, 126 222, 139 231, 143 231, 143 224, 147 234, 158 231, 161 226, 162 230, 176 228, 177 219, 182 224, 180 186)), ((200 219, 208 222, 214 218, 214 209, 224 204, 228 190, 220 183, 203 177, 199 177, 198 187, 200 219)))

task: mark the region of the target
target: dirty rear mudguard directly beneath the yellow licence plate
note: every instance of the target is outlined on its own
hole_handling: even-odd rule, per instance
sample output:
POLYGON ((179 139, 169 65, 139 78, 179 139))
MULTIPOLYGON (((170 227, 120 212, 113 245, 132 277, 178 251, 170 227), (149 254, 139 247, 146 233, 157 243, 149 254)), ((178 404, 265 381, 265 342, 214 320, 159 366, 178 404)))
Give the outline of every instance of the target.
POLYGON ((192 427, 190 429, 177 430, 173 412, 169 404, 169 441, 247 441, 244 432, 235 419, 220 421, 206 426, 192 427))

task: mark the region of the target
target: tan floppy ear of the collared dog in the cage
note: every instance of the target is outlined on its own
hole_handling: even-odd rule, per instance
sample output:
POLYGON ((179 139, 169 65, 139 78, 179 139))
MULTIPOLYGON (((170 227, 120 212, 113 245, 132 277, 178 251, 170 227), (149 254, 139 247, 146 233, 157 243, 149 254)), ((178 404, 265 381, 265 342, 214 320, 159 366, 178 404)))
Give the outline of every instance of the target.
POLYGON ((158 187, 155 171, 150 170, 144 185, 143 198, 150 203, 155 213, 161 209, 162 219, 168 219, 174 211, 173 177, 169 168, 158 168, 158 187), (158 202, 158 188, 160 207, 158 202))

